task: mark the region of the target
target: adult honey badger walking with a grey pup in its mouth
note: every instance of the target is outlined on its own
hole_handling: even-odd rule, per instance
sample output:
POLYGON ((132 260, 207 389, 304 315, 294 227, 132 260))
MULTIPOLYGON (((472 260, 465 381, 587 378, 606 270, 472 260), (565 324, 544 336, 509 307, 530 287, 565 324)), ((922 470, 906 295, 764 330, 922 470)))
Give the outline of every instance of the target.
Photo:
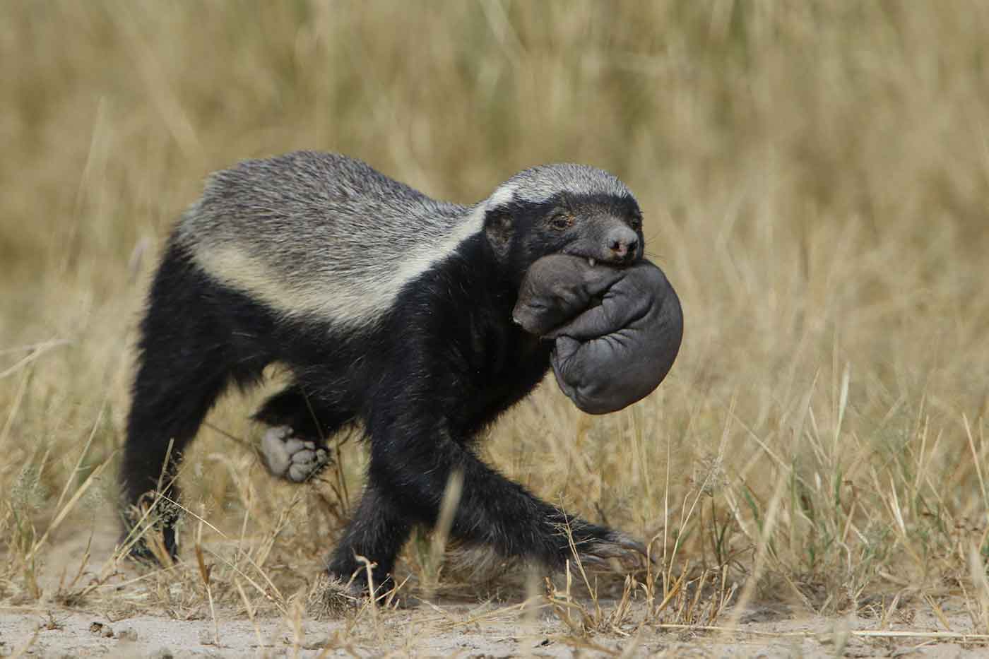
MULTIPOLYGON (((140 324, 125 503, 133 515, 156 487, 175 500, 170 475, 214 402, 278 362, 292 384, 255 414, 272 427, 269 466, 299 480, 320 438, 348 424, 370 444, 330 575, 346 581, 363 556, 374 583, 391 585, 396 556, 414 525, 435 522, 454 471, 463 490, 451 534, 463 542, 559 568, 568 523, 588 561, 641 551, 505 479, 474 441, 549 367, 550 346, 512 322, 529 266, 552 253, 629 264, 643 248, 632 193, 585 165, 526 169, 473 206, 331 153, 217 172, 170 236, 140 324)), ((174 521, 161 521, 173 555, 174 521)))

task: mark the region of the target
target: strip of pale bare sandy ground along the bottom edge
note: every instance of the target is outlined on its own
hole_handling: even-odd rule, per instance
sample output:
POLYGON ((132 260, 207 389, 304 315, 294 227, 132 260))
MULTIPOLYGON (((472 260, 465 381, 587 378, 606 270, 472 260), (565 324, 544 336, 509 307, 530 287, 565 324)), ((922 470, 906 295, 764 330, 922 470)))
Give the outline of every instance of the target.
MULTIPOLYGON (((298 630, 282 619, 258 620, 219 616, 219 642, 211 619, 178 620, 136 615, 113 622, 98 612, 6 610, 0 613, 0 656, 25 652, 38 657, 886 657, 989 656, 984 645, 967 646, 960 639, 918 636, 855 636, 856 629, 874 628, 868 619, 787 618, 741 625, 744 633, 674 631, 645 628, 628 637, 598 634, 568 637, 562 625, 547 617, 470 622, 476 608, 439 606, 383 616, 378 625, 347 630, 345 621, 304 620, 298 630), (376 628, 375 628, 376 627, 376 628), (260 636, 260 637, 259 637, 260 636), (341 639, 349 639, 341 643, 341 639), (583 646, 583 647, 582 647, 583 646)), ((924 634, 936 625, 894 631, 924 634)))

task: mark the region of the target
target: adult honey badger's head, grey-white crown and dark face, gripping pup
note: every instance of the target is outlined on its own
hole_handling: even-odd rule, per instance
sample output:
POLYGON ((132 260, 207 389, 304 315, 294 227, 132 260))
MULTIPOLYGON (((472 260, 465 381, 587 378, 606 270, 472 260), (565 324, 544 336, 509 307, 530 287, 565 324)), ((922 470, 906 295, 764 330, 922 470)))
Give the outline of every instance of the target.
POLYGON ((642 212, 615 176, 586 165, 526 169, 483 202, 485 234, 519 280, 547 254, 626 265, 645 247, 642 212))

